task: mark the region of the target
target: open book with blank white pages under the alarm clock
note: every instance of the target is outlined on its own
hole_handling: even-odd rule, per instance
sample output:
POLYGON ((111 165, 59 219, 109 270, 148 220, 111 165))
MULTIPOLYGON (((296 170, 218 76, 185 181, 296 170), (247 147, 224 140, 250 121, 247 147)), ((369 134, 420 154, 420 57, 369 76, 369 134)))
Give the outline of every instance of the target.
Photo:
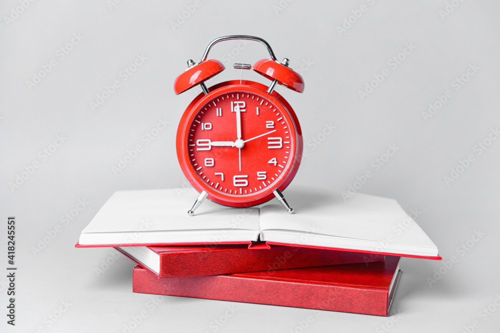
POLYGON ((118 191, 81 232, 77 246, 267 244, 440 259, 437 247, 393 199, 292 187, 295 210, 271 200, 229 208, 205 200, 192 217, 197 192, 175 189, 118 191))

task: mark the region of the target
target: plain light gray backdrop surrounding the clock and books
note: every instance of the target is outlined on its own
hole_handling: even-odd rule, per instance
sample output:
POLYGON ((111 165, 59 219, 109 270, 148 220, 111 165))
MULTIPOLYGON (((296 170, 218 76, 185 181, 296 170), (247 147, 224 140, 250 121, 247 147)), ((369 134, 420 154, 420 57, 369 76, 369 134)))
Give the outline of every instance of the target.
MULTIPOLYGON (((132 332, 215 332, 212 322, 235 305, 236 313, 218 332, 300 332, 299 322, 309 315, 313 322, 303 332, 388 332, 382 325, 394 333, 462 332, 474 320, 479 324, 475 332, 497 332, 500 309, 490 307, 496 311, 487 316, 480 311, 500 293, 500 140, 491 141, 481 154, 474 146, 500 125, 498 1, 450 1, 456 7, 441 17, 444 0, 202 0, 175 29, 170 22, 194 1, 122 0, 110 7, 104 0, 46 0, 20 7, 16 17, 12 9, 20 2, 0 6, 0 270, 7 266, 5 221, 11 215, 17 218, 18 267, 17 326, 5 324, 6 279, 0 278, 0 331, 124 332, 131 317, 146 311, 132 332), (355 22, 339 35, 337 26, 363 4, 366 11, 351 17, 355 22), (11 15, 16 18, 7 22, 11 15), (56 52, 73 33, 83 38, 60 59, 56 52), (404 273, 391 317, 317 315, 306 309, 175 297, 164 297, 151 310, 146 304, 150 295, 131 292, 129 260, 110 259, 110 249, 73 248, 114 191, 185 187, 174 140, 179 118, 195 94, 175 96, 173 80, 187 59, 199 61, 210 40, 235 33, 260 36, 278 58, 288 57, 292 68, 302 66, 304 93, 278 90, 299 117, 308 151, 290 186, 346 191, 371 170, 373 176, 359 192, 395 198, 408 213, 416 209, 415 220, 443 260, 456 257, 449 269, 443 262, 402 259, 404 273), (388 60, 406 43, 416 48, 390 67, 388 60), (119 73, 137 54, 147 59, 124 81, 119 73), (57 65, 30 90, 26 81, 51 59, 57 65), (469 64, 479 69, 455 91, 451 82, 469 64), (384 68, 389 76, 361 100, 358 91, 384 68), (120 87, 92 111, 89 102, 113 80, 120 87), (452 97, 425 121, 422 112, 447 89, 452 97), (169 125, 146 145, 141 137, 158 118, 169 125), (323 137, 325 123, 336 128, 323 137), (39 152, 61 134, 64 143, 42 160, 39 152), (314 147, 312 138, 324 140, 314 147), (111 167, 137 144, 143 151, 114 175, 111 167), (389 144, 399 150, 375 171, 372 161, 389 144), (446 184, 443 177, 469 154, 473 162, 446 184), (11 190, 9 182, 33 161, 39 168, 11 190), (88 205, 64 225, 61 216, 75 209, 78 199, 88 205), (32 247, 56 225, 61 232, 34 255, 32 247), (473 242, 476 231, 484 235, 473 242), (468 251, 457 249, 468 240, 468 251), (105 260, 114 263, 97 276, 95 269, 105 260), (444 275, 429 286, 428 278, 439 269, 444 275), (61 301, 71 305, 49 326, 44 318, 61 301)), ((232 62, 254 63, 268 54, 259 44, 239 50, 238 42, 226 42, 216 45, 210 57, 227 69, 208 85, 239 78, 232 62), (227 52, 239 54, 229 62, 227 52)), ((266 82, 255 73, 243 75, 266 82)))

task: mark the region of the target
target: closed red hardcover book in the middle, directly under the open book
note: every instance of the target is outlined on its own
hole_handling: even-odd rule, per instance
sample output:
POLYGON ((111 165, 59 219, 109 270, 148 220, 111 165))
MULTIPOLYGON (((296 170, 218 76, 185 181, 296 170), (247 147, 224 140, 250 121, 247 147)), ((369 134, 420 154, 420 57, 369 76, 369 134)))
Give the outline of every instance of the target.
POLYGON ((383 261, 384 256, 296 246, 117 247, 159 277, 195 277, 383 261))

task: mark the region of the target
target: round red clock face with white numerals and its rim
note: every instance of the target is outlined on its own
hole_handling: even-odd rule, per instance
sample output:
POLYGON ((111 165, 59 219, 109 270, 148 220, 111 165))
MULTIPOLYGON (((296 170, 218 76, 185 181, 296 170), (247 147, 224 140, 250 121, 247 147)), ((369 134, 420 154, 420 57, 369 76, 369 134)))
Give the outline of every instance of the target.
POLYGON ((180 143, 191 179, 212 197, 229 201, 272 196, 298 167, 300 136, 287 108, 243 85, 204 97, 191 110, 180 143))

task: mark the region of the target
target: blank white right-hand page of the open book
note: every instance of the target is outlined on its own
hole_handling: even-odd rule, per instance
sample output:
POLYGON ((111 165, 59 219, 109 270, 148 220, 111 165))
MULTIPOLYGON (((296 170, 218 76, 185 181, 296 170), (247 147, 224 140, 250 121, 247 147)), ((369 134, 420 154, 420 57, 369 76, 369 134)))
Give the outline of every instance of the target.
POLYGON ((303 186, 289 187, 283 195, 295 212, 286 214, 275 201, 263 204, 259 217, 263 235, 265 230, 292 230, 436 248, 393 199, 355 194, 344 201, 339 193, 303 186))

